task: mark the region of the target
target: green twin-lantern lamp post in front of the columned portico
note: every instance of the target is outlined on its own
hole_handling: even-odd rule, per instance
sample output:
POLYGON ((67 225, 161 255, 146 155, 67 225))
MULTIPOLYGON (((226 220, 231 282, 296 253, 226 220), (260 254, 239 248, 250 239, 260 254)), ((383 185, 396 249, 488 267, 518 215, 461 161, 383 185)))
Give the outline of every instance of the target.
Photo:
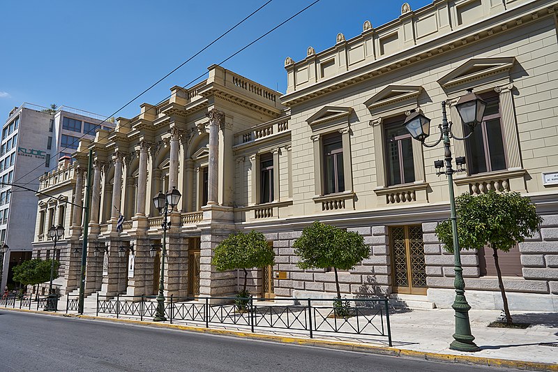
MULTIPOLYGON (((155 313, 154 322, 165 322, 165 255, 167 255, 166 241, 167 241, 167 230, 170 228, 170 221, 168 221, 169 212, 179 204, 181 197, 180 191, 176 190, 176 187, 172 187, 172 191, 167 192, 167 195, 163 194, 163 191, 159 191, 158 195, 153 198, 153 204, 158 209, 160 214, 163 214, 163 223, 161 227, 163 228, 163 255, 161 258, 161 273, 159 281, 159 295, 157 296, 157 311, 155 313)), ((151 254, 151 252, 150 252, 151 254)))

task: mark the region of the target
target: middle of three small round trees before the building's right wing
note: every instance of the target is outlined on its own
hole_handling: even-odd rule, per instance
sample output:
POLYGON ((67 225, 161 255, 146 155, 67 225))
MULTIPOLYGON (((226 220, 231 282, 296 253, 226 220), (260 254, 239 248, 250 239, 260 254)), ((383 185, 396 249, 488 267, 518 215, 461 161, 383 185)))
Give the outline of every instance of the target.
POLYGON ((337 271, 350 270, 365 258, 370 257, 370 248, 357 232, 335 228, 315 221, 302 231, 294 242, 294 253, 300 260, 301 269, 326 269, 333 267, 337 298, 341 298, 337 271))

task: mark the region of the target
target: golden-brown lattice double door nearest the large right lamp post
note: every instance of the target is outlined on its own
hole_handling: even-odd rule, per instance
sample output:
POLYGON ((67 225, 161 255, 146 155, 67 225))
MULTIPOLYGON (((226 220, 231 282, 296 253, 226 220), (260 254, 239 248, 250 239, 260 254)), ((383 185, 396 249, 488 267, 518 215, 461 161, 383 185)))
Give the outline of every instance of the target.
POLYGON ((426 295, 426 266, 421 225, 389 229, 393 292, 426 295))

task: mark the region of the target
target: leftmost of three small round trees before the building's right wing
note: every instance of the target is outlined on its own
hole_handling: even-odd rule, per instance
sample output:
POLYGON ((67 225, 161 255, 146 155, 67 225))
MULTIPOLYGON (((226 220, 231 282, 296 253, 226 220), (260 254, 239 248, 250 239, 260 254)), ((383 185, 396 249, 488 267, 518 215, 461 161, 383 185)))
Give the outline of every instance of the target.
MULTIPOLYGON (((266 238, 261 232, 250 231, 248 234, 238 232, 231 234, 227 239, 220 242, 215 248, 212 265, 218 271, 243 269, 244 283, 242 291, 238 297, 250 297, 250 292, 246 290, 248 269, 253 267, 266 267, 275 262, 275 252, 269 246, 266 238)), ((246 303, 244 308, 246 308, 246 303)), ((239 309, 243 310, 244 308, 239 309)))

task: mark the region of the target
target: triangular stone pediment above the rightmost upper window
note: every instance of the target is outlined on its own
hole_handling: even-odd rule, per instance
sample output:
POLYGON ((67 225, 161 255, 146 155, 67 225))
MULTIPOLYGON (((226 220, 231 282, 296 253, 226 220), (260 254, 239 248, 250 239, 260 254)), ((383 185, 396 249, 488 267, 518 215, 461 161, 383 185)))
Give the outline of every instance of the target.
POLYGON ((447 89, 467 84, 485 77, 509 73, 515 63, 515 57, 475 58, 462 64, 438 80, 440 87, 447 89))

